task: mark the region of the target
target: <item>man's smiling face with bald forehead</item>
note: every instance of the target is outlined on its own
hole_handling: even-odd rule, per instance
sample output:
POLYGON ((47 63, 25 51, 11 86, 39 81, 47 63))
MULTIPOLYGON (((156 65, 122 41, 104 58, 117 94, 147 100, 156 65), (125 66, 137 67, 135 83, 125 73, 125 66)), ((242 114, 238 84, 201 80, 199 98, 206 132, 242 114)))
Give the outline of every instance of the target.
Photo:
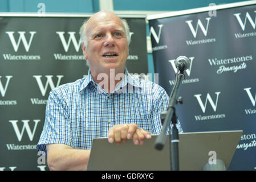
POLYGON ((129 51, 121 20, 112 13, 97 13, 88 20, 86 32, 87 46, 82 48, 91 73, 124 72, 129 51))

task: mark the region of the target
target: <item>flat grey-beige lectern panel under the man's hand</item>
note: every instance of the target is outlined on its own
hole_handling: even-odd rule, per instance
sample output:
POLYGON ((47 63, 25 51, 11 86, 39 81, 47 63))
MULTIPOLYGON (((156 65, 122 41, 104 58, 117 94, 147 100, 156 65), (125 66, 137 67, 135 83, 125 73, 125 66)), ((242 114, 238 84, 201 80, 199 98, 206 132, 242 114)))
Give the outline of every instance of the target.
MULTIPOLYGON (((216 154, 226 169, 242 136, 242 130, 210 131, 179 134, 179 169, 182 171, 202 170, 216 154), (215 152, 215 153, 214 153, 215 152)), ((92 142, 87 170, 94 171, 169 171, 169 137, 164 148, 155 149, 157 135, 145 139, 143 146, 136 146, 132 140, 109 143, 107 138, 96 138, 92 142)))

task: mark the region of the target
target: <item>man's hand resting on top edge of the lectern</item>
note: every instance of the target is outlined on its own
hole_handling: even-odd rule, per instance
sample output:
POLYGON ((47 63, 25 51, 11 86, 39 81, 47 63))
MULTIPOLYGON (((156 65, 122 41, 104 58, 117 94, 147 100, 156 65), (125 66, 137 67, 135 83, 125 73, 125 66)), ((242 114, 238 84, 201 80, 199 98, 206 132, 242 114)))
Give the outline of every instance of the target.
POLYGON ((151 134, 148 131, 141 129, 135 123, 115 125, 108 130, 108 142, 121 144, 127 142, 127 139, 132 139, 136 145, 143 145, 144 139, 151 139, 151 134))

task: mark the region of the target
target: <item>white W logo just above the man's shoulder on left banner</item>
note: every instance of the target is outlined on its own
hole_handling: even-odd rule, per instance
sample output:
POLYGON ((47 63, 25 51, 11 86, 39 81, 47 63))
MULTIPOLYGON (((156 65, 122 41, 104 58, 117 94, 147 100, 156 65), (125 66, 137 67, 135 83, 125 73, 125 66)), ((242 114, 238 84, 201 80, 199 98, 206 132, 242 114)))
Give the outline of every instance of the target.
POLYGON ((59 86, 60 80, 62 79, 62 77, 64 77, 64 75, 57 75, 58 82, 57 82, 56 86, 54 86, 54 82, 52 81, 52 77, 53 77, 52 75, 45 76, 47 78, 45 86, 43 86, 43 83, 41 80, 42 75, 34 75, 33 77, 35 78, 36 82, 38 83, 38 86, 42 93, 42 96, 45 96, 48 85, 50 85, 51 89, 54 89, 55 87, 59 86))

